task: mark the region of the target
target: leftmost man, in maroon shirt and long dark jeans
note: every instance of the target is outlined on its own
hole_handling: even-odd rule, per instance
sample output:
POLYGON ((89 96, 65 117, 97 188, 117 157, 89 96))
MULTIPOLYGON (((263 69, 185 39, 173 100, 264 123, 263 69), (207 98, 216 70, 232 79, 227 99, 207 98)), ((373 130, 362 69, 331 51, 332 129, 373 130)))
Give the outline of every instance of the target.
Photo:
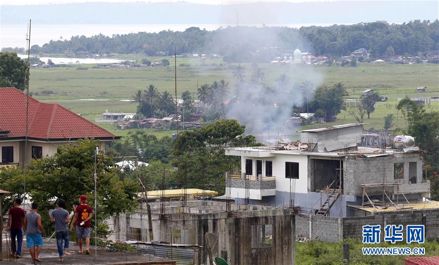
POLYGON ((16 256, 17 259, 21 257, 21 246, 23 243, 23 222, 25 212, 21 206, 21 199, 15 199, 14 207, 9 209, 8 227, 7 231, 11 233, 11 256, 16 256), (16 245, 17 238, 17 245, 16 245))

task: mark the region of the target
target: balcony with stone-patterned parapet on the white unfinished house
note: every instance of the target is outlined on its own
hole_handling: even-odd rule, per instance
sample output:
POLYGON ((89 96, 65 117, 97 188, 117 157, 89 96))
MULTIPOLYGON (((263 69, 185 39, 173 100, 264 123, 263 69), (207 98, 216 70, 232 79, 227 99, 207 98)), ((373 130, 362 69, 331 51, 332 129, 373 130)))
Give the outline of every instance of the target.
POLYGON ((276 177, 227 174, 226 189, 230 189, 230 195, 235 198, 245 198, 249 189, 250 199, 261 200, 263 196, 276 195, 276 177))

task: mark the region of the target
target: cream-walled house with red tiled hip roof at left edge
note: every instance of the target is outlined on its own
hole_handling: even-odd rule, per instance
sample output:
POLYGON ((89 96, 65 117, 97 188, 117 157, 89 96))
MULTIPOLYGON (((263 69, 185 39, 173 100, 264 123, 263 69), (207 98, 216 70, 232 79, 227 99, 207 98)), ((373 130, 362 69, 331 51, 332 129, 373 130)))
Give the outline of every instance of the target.
POLYGON ((104 150, 105 143, 120 138, 57 103, 31 96, 28 102, 26 115, 26 95, 13 87, 0 88, 0 167, 22 168, 31 159, 51 156, 58 146, 78 139, 99 140, 104 150))

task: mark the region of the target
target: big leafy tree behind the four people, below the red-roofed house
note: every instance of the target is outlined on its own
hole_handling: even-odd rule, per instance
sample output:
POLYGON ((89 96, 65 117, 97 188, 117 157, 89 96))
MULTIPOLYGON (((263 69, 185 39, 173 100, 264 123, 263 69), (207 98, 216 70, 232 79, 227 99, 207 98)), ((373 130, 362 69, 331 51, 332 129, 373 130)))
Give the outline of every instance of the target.
MULTIPOLYGON (((112 157, 100 152, 97 156, 97 190, 94 189, 94 152, 97 141, 78 140, 59 146, 59 152, 52 157, 33 159, 27 165, 26 191, 32 201, 38 202, 45 231, 53 231, 49 223, 48 210, 53 208, 52 201, 63 199, 66 209, 73 210, 81 194, 93 198, 97 195, 98 233, 107 235, 105 220, 121 212, 130 212, 137 206, 138 185, 130 180, 121 180, 118 169, 113 168, 112 157)), ((0 170, 1 189, 22 193, 24 176, 21 170, 4 173, 0 170), (18 187, 20 187, 18 189, 18 187)), ((26 194, 26 196, 27 196, 26 194)), ((17 194, 12 194, 14 198, 17 194)), ((92 199, 91 199, 92 201, 92 199)), ((94 218, 92 220, 94 223, 94 218)))

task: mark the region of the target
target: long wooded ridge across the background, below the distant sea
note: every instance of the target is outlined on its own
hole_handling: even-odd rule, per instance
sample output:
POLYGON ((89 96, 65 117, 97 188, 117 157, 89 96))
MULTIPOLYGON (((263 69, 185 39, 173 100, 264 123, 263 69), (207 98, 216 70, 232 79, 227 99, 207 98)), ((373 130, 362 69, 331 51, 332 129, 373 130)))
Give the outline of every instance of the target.
POLYGON ((177 40, 177 54, 218 54, 225 60, 240 62, 269 61, 275 48, 291 50, 300 47, 314 55, 346 56, 358 48, 371 54, 418 55, 439 50, 439 21, 414 20, 402 24, 385 22, 357 23, 353 25, 310 26, 299 29, 289 27, 236 26, 207 31, 190 27, 183 32, 102 34, 93 37, 73 36, 70 40, 51 40, 33 45, 31 52, 56 54, 146 54, 172 55, 177 40), (271 48, 270 48, 271 47, 271 48))

